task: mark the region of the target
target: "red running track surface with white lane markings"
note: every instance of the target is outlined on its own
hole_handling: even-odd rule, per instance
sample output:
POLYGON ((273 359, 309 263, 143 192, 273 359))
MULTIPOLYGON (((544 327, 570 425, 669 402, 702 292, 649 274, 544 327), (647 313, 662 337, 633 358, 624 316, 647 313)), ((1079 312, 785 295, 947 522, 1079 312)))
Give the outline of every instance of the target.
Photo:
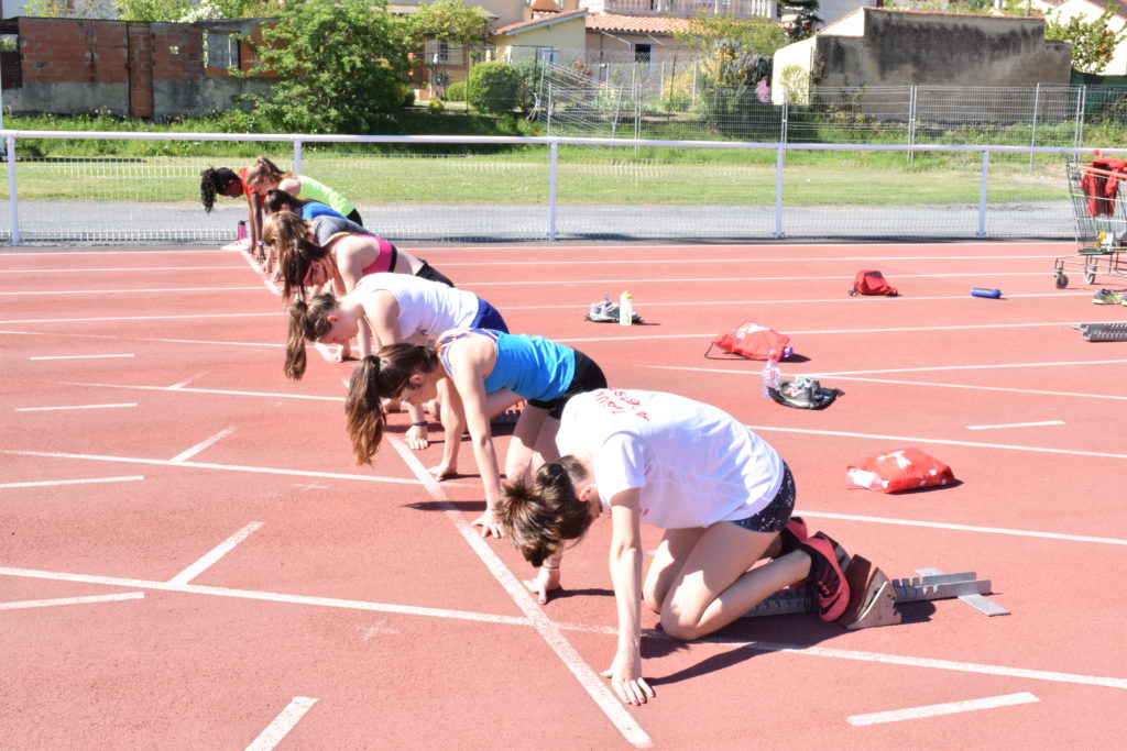
MULTIPOLYGON (((612 385, 744 420, 793 468, 808 522, 888 575, 973 570, 1012 615, 942 600, 854 633, 814 616, 745 619, 692 644, 651 631, 658 696, 621 707, 597 677, 615 638, 606 525, 568 554, 567 589, 541 608, 512 546, 468 528, 477 477, 420 482, 437 444, 412 455, 392 433, 374 466, 349 465, 352 365, 314 356, 287 382, 279 301, 240 254, 7 253, 0 745, 1121 744, 1127 343, 1085 342, 1071 325, 1127 321, 1127 307, 1093 306, 1099 285, 1079 279, 1054 288, 1053 259, 1071 247, 417 252, 513 330, 586 351, 612 385), (848 297, 863 268, 903 296, 848 297), (583 320, 624 288, 648 325, 583 320), (704 359, 748 319, 808 358, 784 377, 816 373, 845 396, 789 410, 758 396, 758 364, 704 359), (63 406, 87 409, 44 409, 63 406), (961 484, 846 489, 851 462, 905 446, 961 484), (1024 703, 855 724, 1011 695, 1024 703)), ((473 471, 464 447, 461 467, 473 471)))

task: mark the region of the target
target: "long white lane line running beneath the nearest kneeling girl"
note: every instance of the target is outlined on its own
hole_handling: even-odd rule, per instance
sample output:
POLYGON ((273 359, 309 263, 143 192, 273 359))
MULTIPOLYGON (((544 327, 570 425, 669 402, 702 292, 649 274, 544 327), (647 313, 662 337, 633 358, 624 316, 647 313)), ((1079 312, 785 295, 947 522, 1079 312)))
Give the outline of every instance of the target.
MULTIPOLYGON (((471 529, 471 534, 478 535, 471 529)), ((480 538, 480 535, 478 535, 480 538)), ((403 605, 391 605, 387 602, 369 602, 365 600, 345 600, 328 597, 310 597, 305 594, 284 594, 281 592, 263 592, 246 589, 229 589, 225 587, 202 587, 199 584, 169 584, 163 581, 150 581, 142 579, 122 579, 116 576, 100 576, 91 574, 78 574, 59 571, 39 571, 35 569, 15 569, 0 566, 0 576, 19 576, 23 579, 43 579, 48 581, 77 581, 88 584, 105 584, 107 587, 128 587, 145 590, 160 590, 169 592, 180 592, 185 594, 201 594, 210 597, 229 597, 234 599, 247 599, 265 602, 283 602, 289 605, 303 605, 314 607, 339 608, 347 610, 389 613, 396 615, 420 616, 431 618, 450 618, 454 620, 468 620, 473 623, 490 623, 508 626, 531 626, 532 623, 526 617, 502 616, 485 613, 471 613, 467 610, 444 610, 441 608, 423 608, 403 605)), ((612 626, 585 625, 585 624, 554 624, 561 631, 575 631, 589 634, 613 635, 618 629, 612 626)), ((646 632, 644 637, 668 638, 660 632, 646 632)), ((903 665, 908 668, 925 668, 932 670, 949 670, 953 672, 977 673, 983 676, 1003 676, 1010 678, 1023 678, 1029 680, 1042 680, 1056 683, 1076 683, 1082 686, 1097 686, 1102 688, 1116 688, 1127 690, 1127 678, 1110 678, 1107 676, 1086 676, 1083 673, 1068 673, 1049 670, 1035 670, 1030 668, 1014 668, 1012 665, 992 665, 976 662, 957 662, 953 660, 934 660, 930 658, 913 658, 900 654, 885 654, 881 652, 861 652, 854 650, 835 650, 822 646, 806 646, 801 644, 784 644, 779 642, 748 642, 746 640, 733 640, 716 634, 700 640, 710 644, 728 644, 731 646, 747 647, 758 652, 792 652, 809 656, 834 658, 838 660, 855 660, 861 662, 873 662, 879 664, 903 665)))

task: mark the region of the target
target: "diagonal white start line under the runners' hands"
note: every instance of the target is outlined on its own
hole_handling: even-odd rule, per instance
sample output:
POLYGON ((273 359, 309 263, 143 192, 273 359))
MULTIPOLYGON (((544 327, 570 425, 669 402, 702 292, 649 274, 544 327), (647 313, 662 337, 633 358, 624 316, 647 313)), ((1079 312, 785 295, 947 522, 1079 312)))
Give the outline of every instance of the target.
POLYGON ((513 598, 521 611, 527 618, 529 625, 540 633, 540 636, 548 643, 548 646, 556 652, 564 665, 575 676, 579 685, 587 691, 595 705, 602 709, 603 714, 611 721, 619 733, 636 748, 649 748, 654 743, 642 730, 641 725, 627 712, 623 704, 606 685, 606 681, 591 668, 583 656, 576 651, 571 643, 564 636, 559 626, 549 618, 540 606, 532 599, 532 596, 524 588, 524 584, 513 575, 513 572, 502 562, 497 554, 485 542, 485 538, 468 522, 460 511, 446 498, 445 491, 434 477, 427 472, 418 457, 401 440, 391 439, 391 446, 399 454, 403 463, 415 473, 419 482, 431 494, 431 497, 444 507, 444 513, 450 519, 462 538, 470 545, 481 562, 486 564, 489 573, 500 583, 500 585, 513 598))

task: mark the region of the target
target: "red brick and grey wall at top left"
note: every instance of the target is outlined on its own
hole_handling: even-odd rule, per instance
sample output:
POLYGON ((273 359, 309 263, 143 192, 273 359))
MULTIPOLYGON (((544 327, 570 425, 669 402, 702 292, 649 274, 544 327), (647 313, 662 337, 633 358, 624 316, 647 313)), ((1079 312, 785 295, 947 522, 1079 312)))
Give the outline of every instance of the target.
MULTIPOLYGON (((265 91, 270 83, 203 64, 205 28, 257 33, 255 20, 188 25, 23 17, 3 26, 19 37, 18 82, 6 74, 3 90, 5 107, 15 113, 100 111, 167 120, 230 108, 233 95, 265 91)), ((240 68, 254 64, 249 45, 241 44, 240 68)))

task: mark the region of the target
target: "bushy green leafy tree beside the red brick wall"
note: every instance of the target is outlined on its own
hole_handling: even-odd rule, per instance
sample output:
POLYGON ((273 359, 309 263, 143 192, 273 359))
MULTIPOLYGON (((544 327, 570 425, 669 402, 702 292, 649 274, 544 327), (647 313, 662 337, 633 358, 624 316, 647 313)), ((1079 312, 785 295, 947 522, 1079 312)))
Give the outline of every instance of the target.
POLYGON ((255 114, 303 133, 366 133, 380 113, 403 104, 407 29, 387 0, 305 0, 263 29, 251 74, 277 82, 251 95, 255 114))

